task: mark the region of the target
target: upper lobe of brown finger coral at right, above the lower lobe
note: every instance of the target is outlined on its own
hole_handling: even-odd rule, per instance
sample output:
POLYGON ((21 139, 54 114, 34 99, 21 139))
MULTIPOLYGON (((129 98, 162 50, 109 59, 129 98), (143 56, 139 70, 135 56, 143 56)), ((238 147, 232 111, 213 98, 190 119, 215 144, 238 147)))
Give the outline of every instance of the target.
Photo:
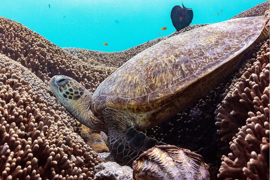
POLYGON ((225 97, 215 114, 221 120, 216 125, 221 127, 218 133, 221 140, 230 139, 238 132, 248 118, 248 112, 256 113, 259 105, 267 105, 264 96, 265 87, 269 85, 269 40, 257 53, 257 61, 250 59, 246 66, 232 80, 231 86, 223 94, 225 97), (254 64, 251 66, 252 62, 254 64), (260 97, 260 98, 258 98, 260 97))

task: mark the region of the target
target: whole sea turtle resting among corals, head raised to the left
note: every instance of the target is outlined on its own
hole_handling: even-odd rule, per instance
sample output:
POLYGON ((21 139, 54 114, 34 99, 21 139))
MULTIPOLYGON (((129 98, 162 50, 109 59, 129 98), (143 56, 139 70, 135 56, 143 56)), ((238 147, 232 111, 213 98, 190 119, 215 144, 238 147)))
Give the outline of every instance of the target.
POLYGON ((164 144, 140 131, 168 120, 219 85, 253 44, 269 38, 267 19, 231 19, 165 39, 128 60, 93 95, 64 75, 52 77, 49 85, 78 121, 108 134, 117 162, 132 166, 143 151, 164 144))

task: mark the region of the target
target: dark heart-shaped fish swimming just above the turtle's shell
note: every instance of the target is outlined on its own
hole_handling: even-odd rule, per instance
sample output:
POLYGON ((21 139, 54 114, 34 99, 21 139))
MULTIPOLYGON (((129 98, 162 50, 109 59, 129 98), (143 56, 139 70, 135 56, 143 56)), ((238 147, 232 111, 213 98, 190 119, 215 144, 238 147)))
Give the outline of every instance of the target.
POLYGON ((174 6, 171 11, 172 23, 176 31, 189 26, 193 19, 193 11, 191 8, 184 7, 183 3, 182 6, 183 8, 180 6, 174 6))

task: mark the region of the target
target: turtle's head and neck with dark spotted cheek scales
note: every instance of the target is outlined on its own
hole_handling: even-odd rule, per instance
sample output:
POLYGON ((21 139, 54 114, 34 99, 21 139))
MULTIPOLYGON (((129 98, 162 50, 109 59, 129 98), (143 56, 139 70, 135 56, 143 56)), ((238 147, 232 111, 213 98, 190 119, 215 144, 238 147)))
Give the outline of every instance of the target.
POLYGON ((80 123, 97 131, 102 130, 101 121, 91 111, 92 95, 84 86, 64 75, 53 76, 49 85, 55 97, 80 123))

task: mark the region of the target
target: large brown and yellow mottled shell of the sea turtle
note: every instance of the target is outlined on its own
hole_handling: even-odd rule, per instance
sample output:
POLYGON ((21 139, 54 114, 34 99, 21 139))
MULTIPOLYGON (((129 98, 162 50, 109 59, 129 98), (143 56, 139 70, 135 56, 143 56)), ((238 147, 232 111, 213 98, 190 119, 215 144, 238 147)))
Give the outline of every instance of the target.
POLYGON ((122 129, 156 126, 230 75, 265 22, 264 16, 231 19, 153 45, 99 85, 92 95, 93 113, 114 126, 122 122, 122 129))

